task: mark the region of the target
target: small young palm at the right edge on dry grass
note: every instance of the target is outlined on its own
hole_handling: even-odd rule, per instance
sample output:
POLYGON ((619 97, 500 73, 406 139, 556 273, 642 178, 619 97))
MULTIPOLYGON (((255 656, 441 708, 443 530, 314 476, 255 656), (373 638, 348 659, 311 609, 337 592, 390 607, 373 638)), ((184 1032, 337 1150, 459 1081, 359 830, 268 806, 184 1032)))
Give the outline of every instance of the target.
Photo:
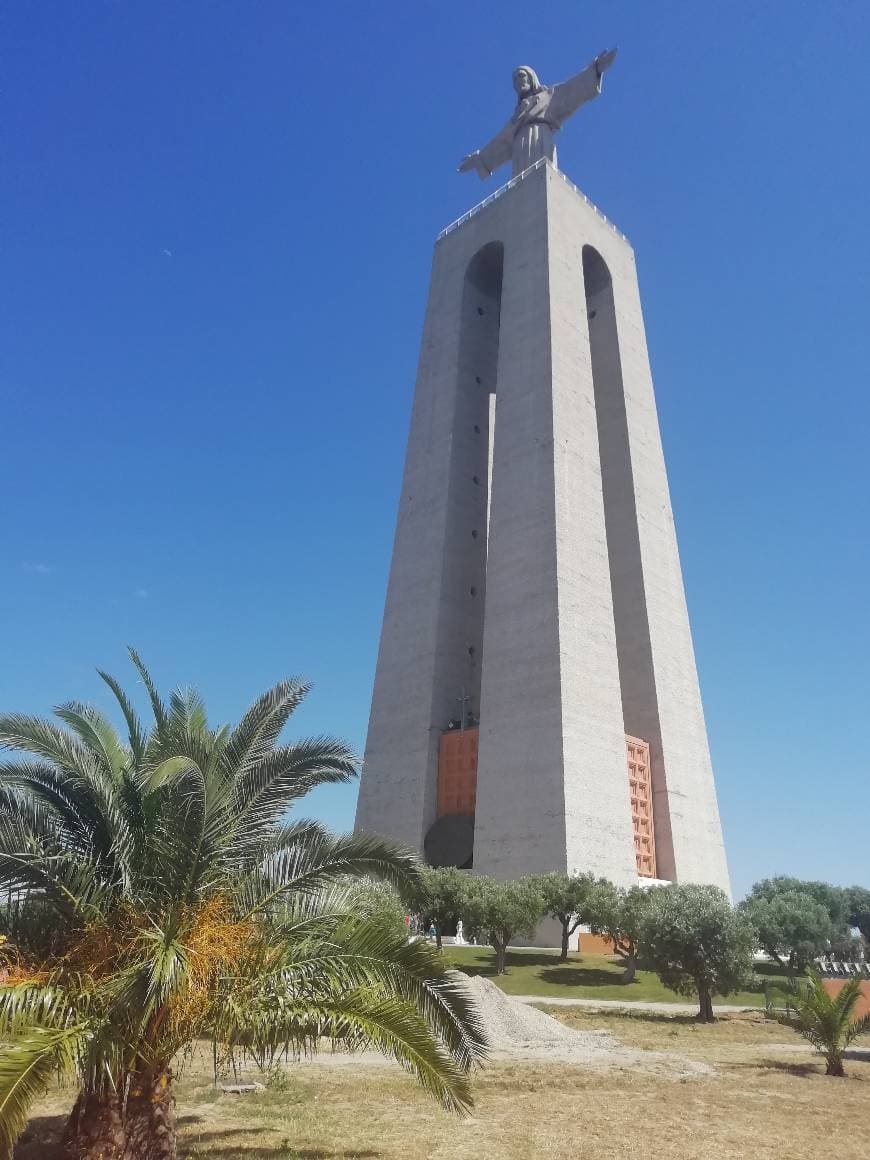
POLYGON ((853 1039, 870 1032, 870 1015, 853 1017, 862 995, 861 979, 849 979, 835 995, 828 994, 825 980, 812 967, 807 967, 806 979, 806 985, 795 984, 784 993, 784 1008, 775 1008, 768 998, 767 1014, 821 1052, 826 1075, 844 1075, 843 1051, 853 1039))

